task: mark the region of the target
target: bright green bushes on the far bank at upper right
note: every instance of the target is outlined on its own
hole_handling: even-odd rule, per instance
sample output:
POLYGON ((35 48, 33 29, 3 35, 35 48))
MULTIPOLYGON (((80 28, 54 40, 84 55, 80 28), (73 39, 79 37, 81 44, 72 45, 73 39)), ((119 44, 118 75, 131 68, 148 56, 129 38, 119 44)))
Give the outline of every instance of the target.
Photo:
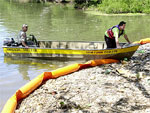
POLYGON ((104 13, 150 13, 150 0, 75 0, 104 13))

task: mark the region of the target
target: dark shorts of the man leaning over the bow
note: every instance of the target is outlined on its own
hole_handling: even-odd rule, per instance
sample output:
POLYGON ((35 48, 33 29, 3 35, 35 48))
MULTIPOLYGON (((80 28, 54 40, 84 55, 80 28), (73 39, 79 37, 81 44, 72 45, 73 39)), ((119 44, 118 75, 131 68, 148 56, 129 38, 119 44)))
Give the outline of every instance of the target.
POLYGON ((111 39, 111 38, 107 37, 106 35, 104 35, 104 38, 105 38, 107 48, 116 48, 115 39, 111 39))

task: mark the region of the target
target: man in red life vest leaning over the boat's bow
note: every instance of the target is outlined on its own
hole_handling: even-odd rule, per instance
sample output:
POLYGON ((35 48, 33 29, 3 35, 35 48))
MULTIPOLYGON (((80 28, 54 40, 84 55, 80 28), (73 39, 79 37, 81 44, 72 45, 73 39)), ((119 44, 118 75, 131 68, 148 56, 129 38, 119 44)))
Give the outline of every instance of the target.
POLYGON ((121 21, 119 25, 113 26, 105 32, 104 38, 107 48, 121 48, 118 38, 123 35, 126 41, 130 44, 128 36, 125 33, 126 22, 121 21))

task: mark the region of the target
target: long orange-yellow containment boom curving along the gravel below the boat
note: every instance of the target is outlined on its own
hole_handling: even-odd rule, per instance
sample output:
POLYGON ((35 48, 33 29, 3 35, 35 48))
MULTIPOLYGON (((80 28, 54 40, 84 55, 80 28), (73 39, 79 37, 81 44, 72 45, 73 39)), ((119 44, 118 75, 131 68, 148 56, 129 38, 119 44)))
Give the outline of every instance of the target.
POLYGON ((72 64, 63 68, 56 69, 52 72, 44 72, 41 75, 37 76, 29 83, 21 87, 16 93, 7 101, 5 104, 2 113, 14 113, 16 110, 17 104, 19 100, 27 97, 32 91, 34 91, 38 86, 42 84, 42 82, 48 79, 55 79, 60 76, 67 75, 69 73, 97 65, 115 63, 118 60, 114 59, 99 59, 99 60, 91 60, 86 62, 85 64, 72 64))

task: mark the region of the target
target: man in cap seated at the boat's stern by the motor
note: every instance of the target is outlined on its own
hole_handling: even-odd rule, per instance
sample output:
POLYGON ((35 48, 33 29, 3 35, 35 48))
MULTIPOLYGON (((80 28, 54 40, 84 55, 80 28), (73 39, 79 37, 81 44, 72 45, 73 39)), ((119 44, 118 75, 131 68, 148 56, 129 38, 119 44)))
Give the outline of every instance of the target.
POLYGON ((17 37, 17 43, 18 45, 22 45, 23 47, 28 48, 29 46, 38 45, 36 38, 34 35, 30 35, 30 37, 27 37, 26 32, 28 30, 28 25, 23 24, 22 30, 20 30, 19 35, 17 37))

